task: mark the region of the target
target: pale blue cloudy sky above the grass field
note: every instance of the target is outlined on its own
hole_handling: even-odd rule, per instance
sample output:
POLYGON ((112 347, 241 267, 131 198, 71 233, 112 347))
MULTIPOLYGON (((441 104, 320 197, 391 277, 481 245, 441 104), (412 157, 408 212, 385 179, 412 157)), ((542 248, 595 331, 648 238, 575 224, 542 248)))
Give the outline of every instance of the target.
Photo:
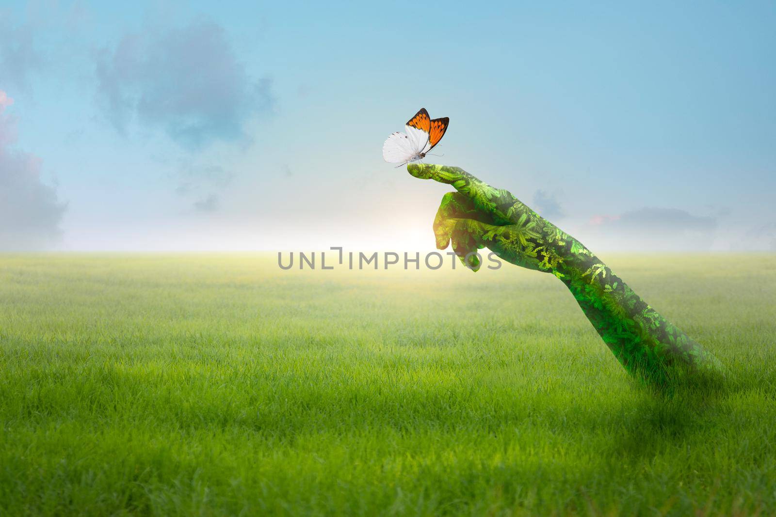
POLYGON ((0 250, 433 250, 434 157, 595 250, 776 250, 774 2, 3 2, 0 250))

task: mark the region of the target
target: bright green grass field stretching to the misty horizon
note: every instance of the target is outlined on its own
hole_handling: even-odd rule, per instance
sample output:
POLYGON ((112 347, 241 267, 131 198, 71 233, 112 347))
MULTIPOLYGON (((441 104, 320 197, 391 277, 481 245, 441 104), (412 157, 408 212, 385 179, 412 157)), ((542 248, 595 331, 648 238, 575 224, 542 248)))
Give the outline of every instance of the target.
POLYGON ((776 256, 601 258, 722 385, 509 264, 2 256, 0 515, 773 515, 776 256))

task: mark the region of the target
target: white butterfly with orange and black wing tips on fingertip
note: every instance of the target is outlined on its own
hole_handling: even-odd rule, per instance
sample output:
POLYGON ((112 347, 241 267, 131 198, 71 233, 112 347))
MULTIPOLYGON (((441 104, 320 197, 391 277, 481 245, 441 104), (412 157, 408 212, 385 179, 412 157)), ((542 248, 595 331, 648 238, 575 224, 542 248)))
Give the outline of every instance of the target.
POLYGON ((407 133, 393 133, 383 143, 383 160, 401 167, 411 161, 422 160, 428 151, 442 140, 450 119, 433 119, 425 108, 415 113, 404 126, 407 133))

